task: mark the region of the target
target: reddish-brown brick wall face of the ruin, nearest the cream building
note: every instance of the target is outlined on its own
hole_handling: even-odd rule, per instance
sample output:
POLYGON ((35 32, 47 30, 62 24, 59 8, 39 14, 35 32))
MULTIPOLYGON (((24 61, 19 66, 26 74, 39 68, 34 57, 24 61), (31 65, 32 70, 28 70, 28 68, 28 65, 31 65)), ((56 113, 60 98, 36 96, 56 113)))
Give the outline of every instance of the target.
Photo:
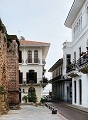
POLYGON ((7 48, 7 69, 8 69, 8 100, 10 104, 19 104, 19 64, 18 44, 16 40, 7 48))

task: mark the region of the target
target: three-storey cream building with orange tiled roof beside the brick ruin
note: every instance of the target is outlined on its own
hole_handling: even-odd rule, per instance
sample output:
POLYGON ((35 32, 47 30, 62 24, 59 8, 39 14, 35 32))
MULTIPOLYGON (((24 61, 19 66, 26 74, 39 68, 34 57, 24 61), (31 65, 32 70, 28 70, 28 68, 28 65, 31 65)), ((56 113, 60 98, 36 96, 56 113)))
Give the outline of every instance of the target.
MULTIPOLYGON (((20 102, 24 95, 35 92, 40 101, 42 89, 47 84, 44 79, 45 59, 50 44, 45 42, 35 42, 20 40, 19 50, 19 86, 20 102)), ((30 100, 28 100, 30 102, 30 100)))

